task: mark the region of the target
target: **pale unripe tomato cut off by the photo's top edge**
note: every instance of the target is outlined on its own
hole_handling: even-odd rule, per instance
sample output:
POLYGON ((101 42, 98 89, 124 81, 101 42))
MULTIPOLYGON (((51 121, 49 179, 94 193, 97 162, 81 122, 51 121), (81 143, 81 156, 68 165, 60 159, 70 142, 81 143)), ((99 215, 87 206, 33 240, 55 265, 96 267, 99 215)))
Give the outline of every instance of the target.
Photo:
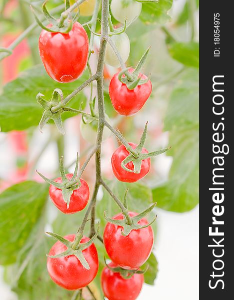
POLYGON ((131 23, 141 13, 142 3, 134 0, 112 0, 110 4, 111 13, 114 18, 123 23, 131 23))

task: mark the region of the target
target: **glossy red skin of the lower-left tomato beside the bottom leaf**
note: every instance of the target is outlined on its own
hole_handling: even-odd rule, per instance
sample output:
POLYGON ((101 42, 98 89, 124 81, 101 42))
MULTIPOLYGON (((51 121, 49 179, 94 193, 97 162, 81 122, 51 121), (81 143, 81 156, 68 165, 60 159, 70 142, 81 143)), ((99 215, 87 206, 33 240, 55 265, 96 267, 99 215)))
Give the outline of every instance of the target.
MULTIPOLYGON (((73 241, 75 234, 64 236, 73 241)), ((83 236, 81 243, 88 241, 89 238, 83 236)), ((57 241, 50 249, 48 255, 56 255, 65 251, 67 247, 57 241)), ((90 269, 85 269, 75 255, 63 256, 59 258, 47 258, 47 269, 51 279, 58 285, 66 289, 78 289, 89 284, 97 274, 98 255, 94 244, 82 251, 90 269)))

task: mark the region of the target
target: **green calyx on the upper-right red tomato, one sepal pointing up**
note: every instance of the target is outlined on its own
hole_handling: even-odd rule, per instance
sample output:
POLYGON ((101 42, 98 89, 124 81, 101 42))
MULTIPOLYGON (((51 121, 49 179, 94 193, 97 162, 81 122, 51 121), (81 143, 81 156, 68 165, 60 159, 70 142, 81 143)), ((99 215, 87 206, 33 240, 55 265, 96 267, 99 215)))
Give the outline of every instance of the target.
POLYGON ((134 89, 137 85, 142 85, 149 80, 149 77, 147 77, 146 79, 142 79, 142 76, 139 76, 139 74, 143 67, 143 64, 146 61, 150 48, 151 46, 148 47, 148 49, 142 55, 133 72, 129 73, 128 71, 131 67, 124 68, 119 72, 119 81, 126 84, 128 89, 134 89))

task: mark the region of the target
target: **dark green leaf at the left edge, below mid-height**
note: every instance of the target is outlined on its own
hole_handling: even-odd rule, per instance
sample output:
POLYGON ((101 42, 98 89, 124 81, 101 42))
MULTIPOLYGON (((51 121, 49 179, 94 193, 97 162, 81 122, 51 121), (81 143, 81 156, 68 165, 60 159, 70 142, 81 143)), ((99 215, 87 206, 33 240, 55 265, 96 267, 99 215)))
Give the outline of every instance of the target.
POLYGON ((48 197, 48 186, 24 181, 0 194, 0 264, 16 261, 33 226, 41 216, 48 197))

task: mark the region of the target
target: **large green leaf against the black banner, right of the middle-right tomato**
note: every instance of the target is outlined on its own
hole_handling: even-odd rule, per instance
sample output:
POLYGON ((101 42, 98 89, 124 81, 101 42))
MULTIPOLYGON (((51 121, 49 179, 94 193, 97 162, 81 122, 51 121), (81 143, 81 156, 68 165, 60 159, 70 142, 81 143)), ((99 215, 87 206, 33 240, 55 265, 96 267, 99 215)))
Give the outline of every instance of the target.
POLYGON ((153 189, 154 200, 163 209, 185 212, 199 202, 198 130, 198 125, 191 125, 170 132, 173 163, 169 179, 153 189))

